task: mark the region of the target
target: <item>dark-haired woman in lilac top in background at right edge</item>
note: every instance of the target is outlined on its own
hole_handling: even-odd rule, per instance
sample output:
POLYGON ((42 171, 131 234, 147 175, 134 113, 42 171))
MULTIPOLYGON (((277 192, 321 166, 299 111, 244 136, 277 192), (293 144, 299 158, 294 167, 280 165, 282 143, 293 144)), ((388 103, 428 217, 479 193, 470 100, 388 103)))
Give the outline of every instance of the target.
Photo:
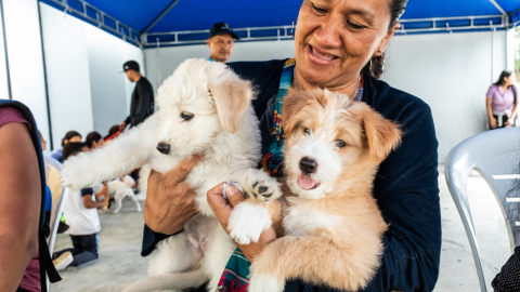
POLYGON ((491 129, 515 125, 518 107, 518 92, 515 82, 517 82, 515 74, 504 70, 498 81, 487 90, 485 109, 491 129))

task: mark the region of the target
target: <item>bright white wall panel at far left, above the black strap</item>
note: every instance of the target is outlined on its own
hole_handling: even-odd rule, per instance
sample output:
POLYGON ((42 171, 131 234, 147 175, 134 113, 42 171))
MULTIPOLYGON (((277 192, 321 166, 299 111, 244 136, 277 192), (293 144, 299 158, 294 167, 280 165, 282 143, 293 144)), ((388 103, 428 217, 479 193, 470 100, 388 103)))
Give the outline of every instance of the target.
MULTIPOLYGON (((49 140, 49 119, 43 76, 40 24, 37 0, 3 0, 5 38, 13 99, 27 105, 35 116, 38 129, 49 140)), ((63 18, 63 14, 62 17, 63 18)), ((3 41, 1 43, 3 51, 3 41)), ((4 66, 4 56, 0 66, 4 66)), ((0 68, 2 70, 2 68, 0 68)), ((3 71, 0 89, 3 89, 3 71)), ((5 94, 2 90, 0 94, 5 94)))

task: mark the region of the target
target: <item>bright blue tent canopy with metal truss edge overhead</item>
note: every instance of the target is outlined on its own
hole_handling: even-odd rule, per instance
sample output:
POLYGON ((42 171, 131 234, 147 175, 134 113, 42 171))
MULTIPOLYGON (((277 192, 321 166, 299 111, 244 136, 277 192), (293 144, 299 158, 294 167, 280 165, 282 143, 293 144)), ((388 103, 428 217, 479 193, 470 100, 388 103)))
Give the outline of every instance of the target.
MULTIPOLYGON (((246 40, 287 38, 287 27, 296 19, 302 0, 40 1, 70 8, 72 14, 94 25, 103 22, 105 30, 146 45, 157 39, 161 43, 200 42, 217 22, 229 23, 246 40), (169 34, 172 31, 176 34, 169 34), (139 39, 141 34, 146 36, 139 39)), ((518 9, 520 0, 410 0, 402 19, 408 32, 504 29, 520 19, 518 9)))

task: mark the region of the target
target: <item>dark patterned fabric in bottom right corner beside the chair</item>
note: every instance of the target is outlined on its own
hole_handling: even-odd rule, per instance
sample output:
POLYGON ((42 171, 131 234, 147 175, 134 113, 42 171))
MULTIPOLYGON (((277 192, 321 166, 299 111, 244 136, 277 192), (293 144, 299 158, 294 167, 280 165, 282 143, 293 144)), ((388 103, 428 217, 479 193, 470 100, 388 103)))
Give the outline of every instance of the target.
POLYGON ((495 292, 520 291, 520 247, 515 249, 515 254, 509 257, 491 284, 495 292))

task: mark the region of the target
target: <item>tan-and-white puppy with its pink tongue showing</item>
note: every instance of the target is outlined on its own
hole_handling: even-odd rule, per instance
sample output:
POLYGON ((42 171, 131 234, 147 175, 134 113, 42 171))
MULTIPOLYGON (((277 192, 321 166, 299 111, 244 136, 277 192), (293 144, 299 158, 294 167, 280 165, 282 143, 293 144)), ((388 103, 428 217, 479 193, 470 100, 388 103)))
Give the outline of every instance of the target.
POLYGON ((401 141, 398 125, 364 103, 326 90, 291 92, 283 125, 288 197, 285 237, 251 266, 250 292, 283 291, 287 279, 358 291, 380 265, 387 230, 372 196, 374 175, 401 141), (302 159, 315 169, 304 171, 302 159))

